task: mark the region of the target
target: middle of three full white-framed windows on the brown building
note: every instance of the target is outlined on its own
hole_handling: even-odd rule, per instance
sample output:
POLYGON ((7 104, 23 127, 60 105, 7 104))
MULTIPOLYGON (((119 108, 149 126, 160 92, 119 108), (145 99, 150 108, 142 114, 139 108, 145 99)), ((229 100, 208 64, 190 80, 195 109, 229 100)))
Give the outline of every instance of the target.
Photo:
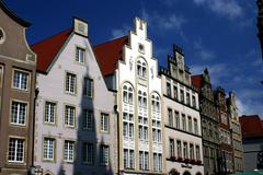
POLYGON ((26 120, 26 103, 22 102, 12 102, 12 109, 11 109, 11 124, 14 125, 25 125, 26 120))

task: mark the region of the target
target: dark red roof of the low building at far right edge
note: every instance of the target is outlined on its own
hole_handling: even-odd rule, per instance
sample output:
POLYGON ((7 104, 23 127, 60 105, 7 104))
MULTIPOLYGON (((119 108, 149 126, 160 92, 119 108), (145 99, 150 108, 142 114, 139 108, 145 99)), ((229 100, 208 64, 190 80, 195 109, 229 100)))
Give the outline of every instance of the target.
POLYGON ((263 124, 258 115, 241 116, 239 117, 239 121, 244 139, 263 137, 263 124))

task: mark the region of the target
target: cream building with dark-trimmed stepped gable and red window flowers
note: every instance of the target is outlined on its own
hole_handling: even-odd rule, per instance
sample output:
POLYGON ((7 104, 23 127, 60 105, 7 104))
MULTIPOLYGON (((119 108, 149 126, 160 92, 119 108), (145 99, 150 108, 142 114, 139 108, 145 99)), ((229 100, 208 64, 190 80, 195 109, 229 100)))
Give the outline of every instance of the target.
POLYGON ((203 175, 203 144, 198 93, 193 88, 184 55, 178 46, 160 69, 164 116, 165 172, 169 175, 203 175))

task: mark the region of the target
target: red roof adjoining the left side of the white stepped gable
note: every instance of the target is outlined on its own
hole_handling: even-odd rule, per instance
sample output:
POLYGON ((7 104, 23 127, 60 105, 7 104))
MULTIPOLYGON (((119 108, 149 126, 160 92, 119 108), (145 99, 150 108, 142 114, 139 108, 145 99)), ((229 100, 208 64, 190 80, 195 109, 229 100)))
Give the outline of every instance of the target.
POLYGON ((103 75, 113 74, 117 62, 123 58, 123 47, 128 44, 128 36, 123 36, 93 47, 103 75))

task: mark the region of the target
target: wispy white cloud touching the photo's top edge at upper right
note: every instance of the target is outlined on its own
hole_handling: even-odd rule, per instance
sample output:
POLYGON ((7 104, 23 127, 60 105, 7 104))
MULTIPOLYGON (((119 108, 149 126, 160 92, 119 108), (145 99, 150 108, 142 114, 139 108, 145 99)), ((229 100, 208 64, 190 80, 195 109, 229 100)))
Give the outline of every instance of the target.
POLYGON ((235 20, 243 15, 243 9, 237 0, 193 0, 195 4, 208 8, 211 12, 235 20))

